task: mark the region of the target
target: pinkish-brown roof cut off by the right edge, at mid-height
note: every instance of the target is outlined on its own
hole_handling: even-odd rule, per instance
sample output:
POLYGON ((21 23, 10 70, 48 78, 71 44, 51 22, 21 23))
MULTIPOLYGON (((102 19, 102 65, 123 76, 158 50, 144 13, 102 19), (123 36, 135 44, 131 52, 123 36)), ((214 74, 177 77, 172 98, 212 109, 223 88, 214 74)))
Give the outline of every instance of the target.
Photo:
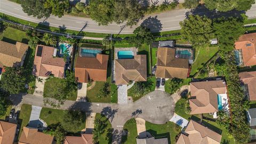
POLYGON ((250 100, 256 100, 256 71, 239 73, 239 77, 248 85, 250 100))

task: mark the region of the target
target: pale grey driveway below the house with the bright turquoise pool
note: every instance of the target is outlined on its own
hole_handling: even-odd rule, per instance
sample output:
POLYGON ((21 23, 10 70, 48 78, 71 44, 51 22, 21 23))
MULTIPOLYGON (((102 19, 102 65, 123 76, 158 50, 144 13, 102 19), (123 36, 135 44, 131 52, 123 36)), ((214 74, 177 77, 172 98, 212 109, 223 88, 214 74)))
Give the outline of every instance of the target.
POLYGON ((118 85, 117 86, 117 95, 118 95, 118 104, 126 104, 128 103, 128 95, 127 95, 127 85, 118 85))

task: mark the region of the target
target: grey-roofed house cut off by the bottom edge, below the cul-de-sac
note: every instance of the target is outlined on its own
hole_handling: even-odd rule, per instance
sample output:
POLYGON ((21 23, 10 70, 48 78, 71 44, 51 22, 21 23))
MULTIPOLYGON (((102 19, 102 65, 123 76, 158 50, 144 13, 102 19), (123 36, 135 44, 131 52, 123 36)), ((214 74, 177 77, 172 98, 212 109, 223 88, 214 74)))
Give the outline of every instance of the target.
POLYGON ((162 138, 162 139, 155 139, 154 137, 151 138, 143 138, 139 139, 136 138, 137 144, 168 144, 168 139, 167 138, 162 138))

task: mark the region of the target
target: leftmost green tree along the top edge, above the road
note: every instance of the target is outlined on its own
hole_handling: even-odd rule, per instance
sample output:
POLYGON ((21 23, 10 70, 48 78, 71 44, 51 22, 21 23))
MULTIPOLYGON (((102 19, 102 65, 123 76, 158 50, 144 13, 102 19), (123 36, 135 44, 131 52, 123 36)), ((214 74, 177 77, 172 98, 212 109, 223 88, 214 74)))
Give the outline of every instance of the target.
POLYGON ((33 15, 38 19, 48 18, 51 15, 51 9, 44 7, 45 0, 26 0, 20 1, 23 12, 33 15))

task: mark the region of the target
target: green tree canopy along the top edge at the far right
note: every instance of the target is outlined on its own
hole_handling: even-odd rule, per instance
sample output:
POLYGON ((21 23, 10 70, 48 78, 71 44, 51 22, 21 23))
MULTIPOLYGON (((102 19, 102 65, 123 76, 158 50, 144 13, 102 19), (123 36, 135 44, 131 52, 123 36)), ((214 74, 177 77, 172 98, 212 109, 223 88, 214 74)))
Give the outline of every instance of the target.
POLYGON ((247 11, 251 9, 252 4, 255 3, 254 0, 233 0, 233 1, 227 1, 227 0, 205 0, 204 1, 205 6, 209 10, 217 9, 221 12, 227 12, 231 10, 239 10, 239 11, 247 11))

